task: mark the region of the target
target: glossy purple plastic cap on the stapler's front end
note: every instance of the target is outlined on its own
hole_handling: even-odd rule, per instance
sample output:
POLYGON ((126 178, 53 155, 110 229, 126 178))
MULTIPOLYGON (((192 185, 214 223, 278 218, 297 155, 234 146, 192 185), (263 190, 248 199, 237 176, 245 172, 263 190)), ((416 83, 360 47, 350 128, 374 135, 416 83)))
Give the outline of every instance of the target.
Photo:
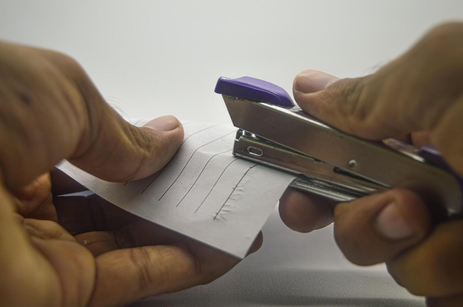
POLYGON ((285 107, 294 106, 286 90, 270 82, 251 77, 236 79, 220 77, 214 91, 217 94, 247 98, 258 102, 268 102, 285 107))

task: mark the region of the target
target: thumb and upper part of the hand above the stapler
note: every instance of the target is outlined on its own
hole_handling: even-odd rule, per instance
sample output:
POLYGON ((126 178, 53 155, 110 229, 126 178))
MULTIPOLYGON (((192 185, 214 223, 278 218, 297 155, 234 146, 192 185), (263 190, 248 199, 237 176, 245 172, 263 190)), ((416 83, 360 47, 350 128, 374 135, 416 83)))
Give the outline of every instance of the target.
POLYGON ((463 143, 456 142, 463 139, 463 55, 457 51, 462 38, 463 24, 441 25, 362 78, 336 81, 322 72, 302 72, 294 79, 294 98, 309 114, 363 138, 432 130, 433 143, 463 173, 463 143), (310 84, 318 80, 328 85, 313 92, 310 84))

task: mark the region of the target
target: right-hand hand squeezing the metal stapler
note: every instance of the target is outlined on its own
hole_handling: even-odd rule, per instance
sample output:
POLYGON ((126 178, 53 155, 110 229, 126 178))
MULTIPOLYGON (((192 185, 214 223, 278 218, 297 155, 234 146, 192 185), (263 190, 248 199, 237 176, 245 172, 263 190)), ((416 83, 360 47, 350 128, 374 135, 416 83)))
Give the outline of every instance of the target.
MULTIPOLYGON (((345 132, 433 144, 463 176, 463 24, 430 31, 372 75, 338 79, 308 70, 294 80, 307 113, 345 132)), ((357 265, 385 262, 400 285, 429 306, 463 306, 463 220, 433 225, 426 199, 393 189, 334 203, 294 190, 280 201, 282 220, 308 232, 334 220, 334 236, 357 265)))

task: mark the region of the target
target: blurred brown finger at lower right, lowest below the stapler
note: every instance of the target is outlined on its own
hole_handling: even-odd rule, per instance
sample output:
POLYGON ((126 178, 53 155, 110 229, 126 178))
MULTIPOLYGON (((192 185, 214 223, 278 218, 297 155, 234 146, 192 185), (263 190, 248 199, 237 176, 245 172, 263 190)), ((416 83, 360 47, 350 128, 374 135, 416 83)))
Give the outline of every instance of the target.
POLYGON ((462 233, 461 220, 438 224, 425 241, 388 262, 389 273, 415 295, 463 293, 462 233))

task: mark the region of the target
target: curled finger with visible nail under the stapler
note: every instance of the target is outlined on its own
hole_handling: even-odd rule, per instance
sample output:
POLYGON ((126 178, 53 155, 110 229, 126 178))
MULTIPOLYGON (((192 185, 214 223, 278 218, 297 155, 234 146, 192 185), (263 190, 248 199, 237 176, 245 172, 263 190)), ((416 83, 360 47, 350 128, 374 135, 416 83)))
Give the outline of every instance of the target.
POLYGON ((342 203, 334 211, 336 242, 347 259, 357 265, 394 259, 422 241, 430 228, 424 202, 402 189, 342 203))

